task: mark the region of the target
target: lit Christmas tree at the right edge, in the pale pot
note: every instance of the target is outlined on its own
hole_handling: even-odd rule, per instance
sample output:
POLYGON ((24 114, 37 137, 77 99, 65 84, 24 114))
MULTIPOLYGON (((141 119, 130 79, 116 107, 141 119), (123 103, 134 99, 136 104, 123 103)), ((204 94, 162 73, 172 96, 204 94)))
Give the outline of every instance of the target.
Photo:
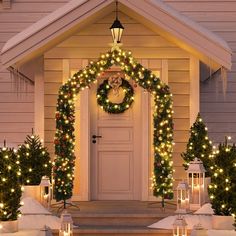
POLYGON ((225 143, 215 152, 208 192, 216 215, 236 214, 236 146, 225 143))

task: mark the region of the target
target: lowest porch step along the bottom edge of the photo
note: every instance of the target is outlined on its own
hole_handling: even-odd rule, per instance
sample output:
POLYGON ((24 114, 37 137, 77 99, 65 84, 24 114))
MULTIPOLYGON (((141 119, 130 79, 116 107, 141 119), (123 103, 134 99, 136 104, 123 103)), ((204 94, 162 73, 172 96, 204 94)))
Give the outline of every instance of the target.
MULTIPOLYGON (((81 227, 74 229, 73 236, 172 236, 172 230, 149 229, 147 227, 81 227)), ((58 236, 58 231, 53 232, 58 236)))

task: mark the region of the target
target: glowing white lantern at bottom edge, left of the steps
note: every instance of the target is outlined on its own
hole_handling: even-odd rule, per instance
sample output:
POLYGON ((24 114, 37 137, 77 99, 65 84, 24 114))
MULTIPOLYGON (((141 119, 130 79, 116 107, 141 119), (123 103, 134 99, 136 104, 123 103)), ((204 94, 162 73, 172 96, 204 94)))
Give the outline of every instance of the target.
POLYGON ((66 210, 61 214, 61 229, 59 236, 72 236, 73 235, 73 220, 71 214, 66 210))

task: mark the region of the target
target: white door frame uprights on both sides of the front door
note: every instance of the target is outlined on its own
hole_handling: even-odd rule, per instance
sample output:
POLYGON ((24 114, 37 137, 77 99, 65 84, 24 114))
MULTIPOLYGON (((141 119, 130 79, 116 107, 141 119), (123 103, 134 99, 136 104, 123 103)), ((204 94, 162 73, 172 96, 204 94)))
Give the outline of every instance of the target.
MULTIPOLYGON (((82 66, 85 67, 88 64, 88 60, 82 60, 82 66)), ((141 64, 148 68, 148 60, 141 60, 141 64)), ((163 82, 168 84, 168 60, 161 60, 161 79, 163 82)), ((141 134, 142 134, 142 153, 141 153, 141 201, 157 201, 158 198, 150 195, 150 132, 149 122, 150 118, 150 99, 149 93, 141 92, 141 134)), ((90 90, 86 89, 80 93, 80 136, 83 137, 80 143, 80 171, 79 171, 79 182, 80 182, 80 194, 73 195, 73 201, 90 201, 91 200, 91 179, 90 179, 90 111, 89 111, 89 97, 90 90)))

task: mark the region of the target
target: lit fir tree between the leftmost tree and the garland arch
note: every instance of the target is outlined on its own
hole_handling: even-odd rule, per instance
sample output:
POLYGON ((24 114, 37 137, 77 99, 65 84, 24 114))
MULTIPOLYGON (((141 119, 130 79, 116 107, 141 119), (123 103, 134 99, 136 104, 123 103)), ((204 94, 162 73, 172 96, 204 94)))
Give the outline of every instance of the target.
POLYGON ((28 135, 24 144, 19 147, 18 157, 23 185, 39 185, 42 176, 51 176, 50 156, 39 136, 28 135))

